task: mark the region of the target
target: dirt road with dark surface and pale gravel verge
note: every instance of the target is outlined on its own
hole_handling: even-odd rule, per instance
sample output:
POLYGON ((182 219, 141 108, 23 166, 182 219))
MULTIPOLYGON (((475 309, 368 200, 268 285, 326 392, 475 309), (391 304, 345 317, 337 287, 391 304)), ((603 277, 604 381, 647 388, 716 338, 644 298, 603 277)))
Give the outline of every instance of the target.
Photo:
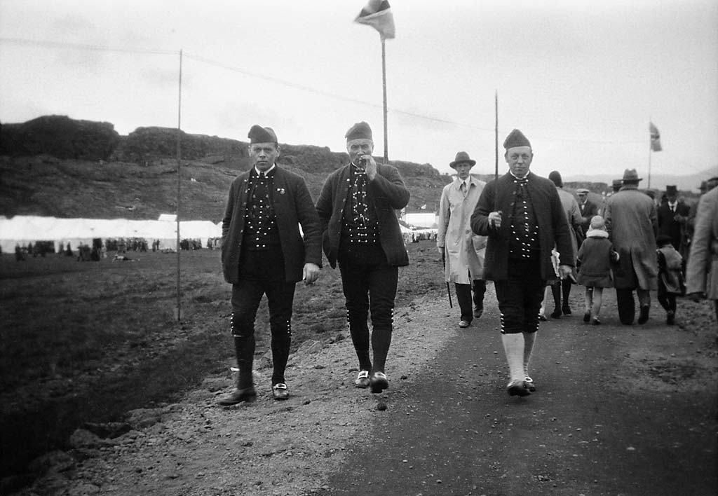
POLYGON ((218 408, 230 375, 207 378, 131 412, 129 432, 76 432, 22 495, 714 494, 714 334, 666 327, 655 305, 618 326, 608 293, 600 327, 579 312, 542 324, 528 398, 503 389, 493 290, 461 332, 444 299, 418 299, 396 312, 382 395, 353 387, 348 340, 307 342, 289 401, 260 368, 256 403, 218 408))

